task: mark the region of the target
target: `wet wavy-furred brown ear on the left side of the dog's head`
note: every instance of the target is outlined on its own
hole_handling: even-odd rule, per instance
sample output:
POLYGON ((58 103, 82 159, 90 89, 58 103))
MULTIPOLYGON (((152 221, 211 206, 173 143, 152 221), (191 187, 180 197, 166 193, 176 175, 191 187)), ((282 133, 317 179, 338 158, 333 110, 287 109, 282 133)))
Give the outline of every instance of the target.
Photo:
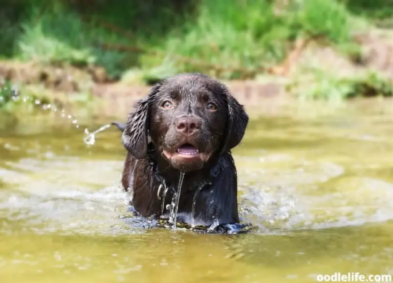
POLYGON ((124 127, 123 145, 136 159, 142 159, 147 154, 150 104, 158 93, 160 86, 161 83, 154 85, 144 99, 135 103, 134 110, 129 113, 124 127))

